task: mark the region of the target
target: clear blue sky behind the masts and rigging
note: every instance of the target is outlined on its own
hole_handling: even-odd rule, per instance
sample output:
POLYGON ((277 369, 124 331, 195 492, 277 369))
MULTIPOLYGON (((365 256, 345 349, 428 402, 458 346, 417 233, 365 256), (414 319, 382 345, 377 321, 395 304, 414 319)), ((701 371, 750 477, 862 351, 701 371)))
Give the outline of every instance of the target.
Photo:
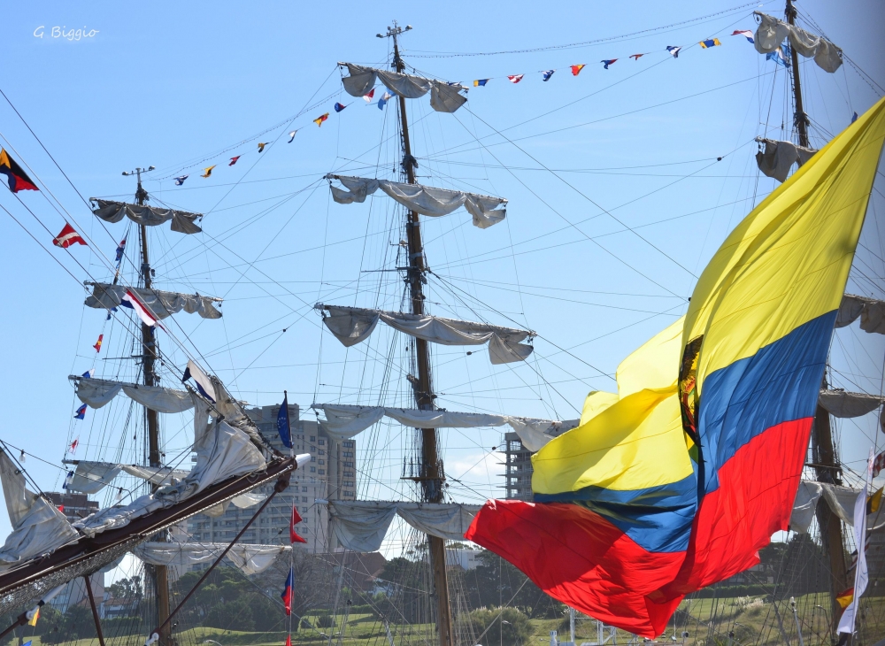
MULTIPOLYGON (((754 6, 774 15, 783 6, 734 9, 739 4, 17 6, 0 25, 6 52, 0 88, 76 191, 2 103, 0 135, 64 209, 50 204, 48 191, 19 194, 48 234, 11 194, 0 192, 0 204, 44 246, 65 218, 92 244, 47 253, 9 216, 0 218, 8 291, 0 317, 6 365, 0 435, 50 463, 27 461, 46 490, 60 487, 59 462, 78 435, 77 458, 142 460, 127 403, 74 422, 78 402, 66 377, 93 366, 109 378, 135 375, 131 361, 114 359, 132 353, 127 326, 106 324, 101 311, 84 308, 77 284, 109 278, 104 258, 127 225, 102 227, 81 196, 128 199, 134 181, 121 172, 147 165, 158 169, 145 182, 155 204, 206 214, 205 235, 150 230, 157 286, 226 299, 221 321, 179 315, 174 338, 161 337, 170 363, 166 384, 174 384, 173 373, 190 354, 250 404, 279 403, 285 388, 303 407, 407 405, 402 340, 379 330, 371 342, 345 350, 312 311, 319 300, 391 309, 402 302, 397 274, 377 271, 396 266, 400 234, 391 223, 399 212, 383 196, 334 204, 321 179, 329 172, 392 176, 395 111, 344 94, 335 64, 383 65, 389 42, 374 35, 394 18, 414 27, 402 46, 419 73, 465 83, 491 79, 471 88, 466 108, 454 115, 433 112, 427 98, 409 102, 419 181, 510 200, 508 218, 487 230, 471 227, 464 211, 426 220, 427 259, 436 274, 429 307, 441 316, 539 333, 527 365, 491 366, 484 351, 436 349, 438 404, 576 417, 589 390, 613 388, 621 358, 683 313, 707 259, 774 187, 758 175, 753 139, 789 137, 789 83, 783 68, 730 34, 755 29, 754 6), (81 38, 54 38, 53 27, 65 34, 79 28, 81 38), (713 36, 721 47, 697 45, 713 36), (678 59, 667 45, 684 47, 678 59), (513 50, 534 51, 449 55, 513 50), (629 58, 636 53, 646 55, 629 58), (609 58, 618 61, 604 70, 598 61, 609 58), (569 71, 574 64, 587 65, 577 77, 569 71), (545 69, 557 70, 548 82, 539 72, 545 69), (526 74, 519 84, 507 81, 518 73, 526 74), (336 101, 348 107, 315 126, 312 119, 336 101), (271 145, 259 155, 258 142, 271 145), (235 155, 242 157, 228 166, 235 155), (212 177, 201 178, 213 164, 212 177), (177 188, 172 178, 182 174, 189 179, 177 188), (104 348, 96 358, 91 346, 99 334, 104 348)), ((798 7, 805 27, 814 28, 812 19, 885 84, 881 3, 815 0, 798 7)), ((851 65, 827 74, 803 61, 802 73, 816 145, 881 91, 851 65)), ((873 193, 872 204, 849 288, 885 296, 881 193, 873 193)), ((130 259, 134 250, 132 235, 130 259)), ((879 392, 883 353, 881 338, 856 326, 839 332, 835 383, 879 392)), ((168 461, 186 455, 188 426, 183 416, 164 419, 168 461)), ((881 447, 876 427, 874 419, 839 426, 854 468, 873 440, 881 447)), ((491 448, 500 433, 442 435, 447 473, 457 479, 451 495, 472 501, 496 495, 502 479, 491 448)), ((360 496, 408 495, 399 472, 412 435, 381 425, 360 442, 360 496)))

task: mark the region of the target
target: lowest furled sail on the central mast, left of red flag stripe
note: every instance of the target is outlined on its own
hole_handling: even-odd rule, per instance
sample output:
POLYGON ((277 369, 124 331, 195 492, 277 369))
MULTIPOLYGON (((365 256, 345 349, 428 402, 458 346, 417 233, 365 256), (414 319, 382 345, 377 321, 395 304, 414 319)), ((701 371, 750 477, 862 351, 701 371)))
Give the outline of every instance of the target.
POLYGON ((422 534, 461 541, 473 516, 480 510, 478 504, 461 503, 332 500, 329 505, 332 529, 338 541, 342 547, 358 552, 379 550, 395 515, 422 534))

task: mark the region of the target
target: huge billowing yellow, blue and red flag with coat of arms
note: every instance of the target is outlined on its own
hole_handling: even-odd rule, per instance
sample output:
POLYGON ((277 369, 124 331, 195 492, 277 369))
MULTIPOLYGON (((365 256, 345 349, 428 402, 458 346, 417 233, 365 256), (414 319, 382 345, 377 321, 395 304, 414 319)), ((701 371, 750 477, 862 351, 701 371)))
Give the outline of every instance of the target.
POLYGON ((684 319, 535 454, 535 503, 489 501, 466 538, 645 637, 756 565, 788 527, 883 139, 885 99, 743 219, 684 319))

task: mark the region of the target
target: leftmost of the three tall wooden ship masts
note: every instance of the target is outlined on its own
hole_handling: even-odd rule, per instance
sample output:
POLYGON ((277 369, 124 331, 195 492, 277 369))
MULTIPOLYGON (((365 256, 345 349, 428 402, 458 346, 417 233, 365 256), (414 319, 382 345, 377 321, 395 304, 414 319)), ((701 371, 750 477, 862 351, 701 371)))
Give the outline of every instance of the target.
MULTIPOLYGON (((138 188, 135 189, 135 204, 143 206, 149 199, 148 192, 142 188, 142 173, 153 170, 153 166, 147 169, 136 168, 134 173, 138 179, 138 188)), ((130 173, 123 173, 131 175, 130 173)), ((147 227, 143 224, 138 225, 139 236, 141 238, 141 256, 142 263, 140 271, 142 273, 142 281, 144 288, 150 289, 150 259, 148 256, 148 232, 147 227)), ((154 371, 154 363, 157 359, 157 346, 154 337, 154 328, 142 322, 142 373, 145 386, 156 386, 157 373, 154 371)), ((144 407, 145 426, 148 429, 148 463, 150 466, 162 466, 159 442, 159 420, 157 411, 144 407)), ((158 486, 154 487, 155 489, 158 486)), ((163 541, 165 536, 158 536, 155 540, 163 541)), ((157 600, 157 625, 163 626, 169 617, 169 580, 165 565, 152 565, 153 581, 154 581, 154 598, 157 600)), ((171 646, 170 633, 167 627, 164 627, 160 633, 161 646, 171 646)))

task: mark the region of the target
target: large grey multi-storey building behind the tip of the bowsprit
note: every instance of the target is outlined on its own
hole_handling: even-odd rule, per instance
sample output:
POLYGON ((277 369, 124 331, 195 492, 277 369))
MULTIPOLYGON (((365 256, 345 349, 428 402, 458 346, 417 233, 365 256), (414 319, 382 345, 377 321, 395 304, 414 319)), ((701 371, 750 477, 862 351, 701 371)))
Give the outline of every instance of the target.
MULTIPOLYGON (((258 426, 266 441, 285 454, 289 449, 282 445, 276 429, 279 411, 279 405, 270 405, 246 409, 246 414, 258 426)), ((329 544, 325 501, 356 498, 356 442, 335 441, 317 422, 300 419, 297 404, 289 404, 289 423, 296 455, 310 453, 311 461, 292 474, 289 488, 273 498, 264 513, 242 535, 240 542, 289 544, 289 518, 294 504, 304 519, 298 526, 298 532, 307 541, 304 547, 312 553, 324 552, 329 544)), ((272 489, 273 483, 257 491, 269 494, 272 489)), ((233 541, 256 509, 238 509, 232 504, 218 518, 197 514, 189 519, 188 533, 194 541, 233 541)), ((334 547, 332 545, 333 549, 334 547)))

